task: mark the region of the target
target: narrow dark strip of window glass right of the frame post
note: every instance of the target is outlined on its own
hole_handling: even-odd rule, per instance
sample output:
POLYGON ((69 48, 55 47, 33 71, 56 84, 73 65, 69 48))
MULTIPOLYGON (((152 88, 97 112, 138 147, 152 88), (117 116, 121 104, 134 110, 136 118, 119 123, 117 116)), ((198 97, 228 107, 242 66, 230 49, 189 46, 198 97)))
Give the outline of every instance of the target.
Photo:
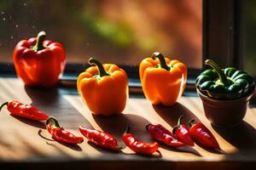
POLYGON ((247 0, 244 1, 244 67, 253 77, 256 77, 256 1, 247 0))

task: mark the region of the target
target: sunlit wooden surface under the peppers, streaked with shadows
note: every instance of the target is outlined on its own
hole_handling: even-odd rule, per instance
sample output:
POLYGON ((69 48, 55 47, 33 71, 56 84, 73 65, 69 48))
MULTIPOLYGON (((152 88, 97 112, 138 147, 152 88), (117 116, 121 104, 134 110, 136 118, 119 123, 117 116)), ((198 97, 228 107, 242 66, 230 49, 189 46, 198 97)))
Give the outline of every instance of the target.
POLYGON ((110 117, 93 116, 80 99, 76 89, 26 88, 18 79, 0 78, 0 103, 11 99, 37 106, 39 110, 55 116, 61 126, 75 134, 81 135, 78 130, 79 125, 94 127, 113 134, 119 140, 119 144, 123 144, 121 135, 127 124, 131 126, 131 132, 138 139, 151 142, 145 130, 145 125, 148 123, 160 123, 172 128, 178 116, 183 115, 185 122, 193 117, 210 128, 225 154, 204 150, 198 145, 177 150, 161 145, 161 157, 157 155, 147 157, 134 155, 128 148, 125 148, 123 153, 102 150, 89 144, 86 139, 84 143, 76 146, 54 141, 46 142, 38 135, 38 130, 42 129, 42 134, 50 138, 43 122, 32 122, 10 116, 9 111, 4 107, 0 114, 0 169, 5 166, 30 169, 30 165, 34 164, 42 168, 49 164, 57 167, 59 163, 65 165, 63 167, 80 166, 92 169, 97 167, 112 169, 255 167, 256 108, 253 106, 247 111, 247 116, 240 125, 229 128, 212 127, 204 116, 201 100, 196 96, 182 97, 177 105, 172 107, 154 106, 143 96, 130 96, 123 114, 110 117))

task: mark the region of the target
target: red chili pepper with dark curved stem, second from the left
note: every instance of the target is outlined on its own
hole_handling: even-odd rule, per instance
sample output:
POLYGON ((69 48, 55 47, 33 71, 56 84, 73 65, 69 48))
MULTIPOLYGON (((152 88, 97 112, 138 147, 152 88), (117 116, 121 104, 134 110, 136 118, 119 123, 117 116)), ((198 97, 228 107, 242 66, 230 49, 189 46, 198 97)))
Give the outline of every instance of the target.
POLYGON ((46 121, 46 128, 52 135, 52 138, 56 141, 67 143, 67 144, 79 144, 84 141, 82 137, 75 136, 73 133, 67 132, 63 127, 59 125, 59 122, 53 116, 49 116, 46 121), (55 122, 54 125, 49 125, 49 122, 55 122))

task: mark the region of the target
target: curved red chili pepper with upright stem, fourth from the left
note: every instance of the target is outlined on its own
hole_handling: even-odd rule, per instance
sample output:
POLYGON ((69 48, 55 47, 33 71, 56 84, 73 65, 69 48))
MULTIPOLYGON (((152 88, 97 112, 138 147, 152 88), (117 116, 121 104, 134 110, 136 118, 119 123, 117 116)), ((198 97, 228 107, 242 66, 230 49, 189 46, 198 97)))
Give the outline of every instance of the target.
POLYGON ((160 152, 157 142, 152 144, 143 143, 143 141, 136 139, 133 134, 129 133, 129 130, 130 127, 127 127, 123 134, 123 141, 131 150, 142 155, 152 155, 155 151, 160 152))

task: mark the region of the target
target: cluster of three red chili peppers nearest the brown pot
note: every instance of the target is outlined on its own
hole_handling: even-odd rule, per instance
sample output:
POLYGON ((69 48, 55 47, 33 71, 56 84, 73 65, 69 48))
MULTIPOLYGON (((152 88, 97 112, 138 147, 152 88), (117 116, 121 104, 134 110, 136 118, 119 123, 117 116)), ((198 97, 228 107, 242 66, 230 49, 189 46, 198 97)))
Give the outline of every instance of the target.
POLYGON ((173 133, 160 124, 148 124, 146 129, 153 139, 170 147, 194 146, 195 142, 203 148, 221 151, 217 139, 204 124, 195 123, 195 120, 191 119, 188 127, 181 123, 182 118, 183 116, 178 118, 177 125, 172 130, 173 133))

